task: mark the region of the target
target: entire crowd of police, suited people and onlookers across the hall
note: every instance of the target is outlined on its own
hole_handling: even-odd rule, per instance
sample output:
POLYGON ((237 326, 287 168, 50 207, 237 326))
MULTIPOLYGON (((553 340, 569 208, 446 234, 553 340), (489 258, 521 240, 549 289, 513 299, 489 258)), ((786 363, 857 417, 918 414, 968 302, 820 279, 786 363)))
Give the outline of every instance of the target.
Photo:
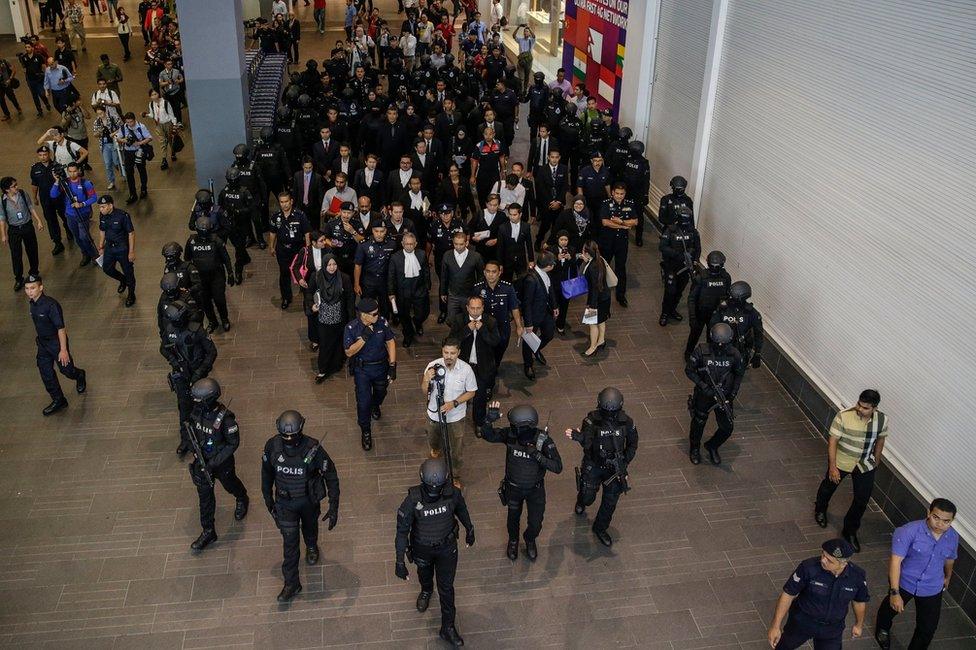
MULTIPOLYGON (((443 325, 446 337, 441 356, 427 364, 419 381, 431 458, 421 467, 420 485, 410 489, 398 510, 395 574, 407 578, 408 559, 417 565, 421 612, 436 578, 440 635, 459 646, 453 591, 458 523, 466 529, 467 545, 475 541, 462 492, 464 450, 471 444, 466 434, 470 430, 476 438, 505 445, 499 488, 508 510, 505 553, 513 562, 518 558, 526 507, 522 537, 526 557, 534 561, 546 505, 545 475, 559 474, 563 463, 531 406, 513 406, 508 426, 494 428, 501 417, 501 404, 494 400, 499 370, 510 348, 517 347, 525 378, 536 380, 537 366, 548 364, 547 344, 573 326, 568 314, 574 299, 580 303, 578 323, 588 335, 581 354, 590 358, 605 348, 613 298, 622 308, 629 304, 630 242, 644 244, 650 167, 643 143, 610 111, 598 109, 597 98, 583 84, 574 85, 562 70, 547 80, 531 72, 531 59, 527 66, 525 57, 517 64, 508 59, 501 41, 507 22, 494 9, 486 23, 474 2, 455 2, 452 11, 439 0, 404 0, 404 20, 393 30, 371 2, 369 7, 364 0, 346 4, 346 39, 321 64, 310 59, 290 74, 275 126, 263 129, 253 145, 233 148, 223 189, 216 195, 210 189, 196 193, 185 245, 172 241, 162 249, 156 308, 160 352, 172 368, 167 378, 179 413, 177 453, 193 456, 190 473, 200 502, 202 532, 191 547, 202 551, 218 539, 216 481, 235 497, 235 519, 248 512, 248 493, 234 466, 239 426, 219 401, 220 385, 209 374, 219 352, 210 334, 231 329, 226 287, 247 281, 252 255, 262 251, 275 259, 282 310, 290 308, 297 288, 308 346, 317 355, 310 379, 322 384, 348 368, 366 452, 374 447, 372 423, 382 418, 389 384, 397 380, 398 346, 421 340, 436 300, 436 324, 443 325), (530 140, 524 161, 512 155, 523 118, 530 140)), ((123 103, 134 100, 123 102, 122 71, 108 55, 101 56, 97 90, 85 102, 73 84, 78 72, 73 43, 85 47, 84 30, 71 27, 78 7, 69 0, 59 12, 60 1, 49 0, 42 7, 45 20, 60 20, 66 36, 56 40, 53 56, 36 39, 20 56, 38 116, 45 114, 42 105, 61 115, 60 123, 38 138, 31 192, 16 178, 0 180, 0 232, 12 253, 14 289, 26 286, 31 301, 38 368, 52 399, 46 416, 68 405, 55 369, 75 381, 79 394, 87 390, 87 377, 74 365, 60 305, 44 293, 37 231, 47 229, 52 255, 60 255, 63 226, 68 241, 77 243, 81 266, 97 260, 131 307, 135 228, 112 196, 99 194, 86 178, 90 151, 101 154, 108 190, 115 189, 119 172, 128 187, 127 203, 145 198, 154 145, 163 170, 177 159, 187 103, 179 25, 156 1, 139 7, 150 87, 148 110, 140 117, 153 128, 134 111, 123 112, 123 103), (90 234, 96 209, 97 243, 90 234)), ((121 38, 124 8, 110 2, 107 9, 121 38)), ((286 53, 297 64, 301 24, 294 8, 275 2, 272 14, 271 21, 255 24, 255 38, 262 49, 286 53)), ((324 32, 324 2, 315 0, 314 16, 324 32)), ((531 30, 519 25, 516 38, 520 53, 531 54, 531 30)), ((128 39, 122 42, 128 59, 128 39)), ((10 83, 14 77, 10 65, 0 61, 5 114, 3 98, 19 110, 10 83)), ((671 193, 658 206, 664 285, 659 325, 683 320, 678 306, 690 285, 684 350, 685 372, 693 382, 689 460, 701 463, 704 428, 714 413, 717 430, 704 447, 709 461, 719 465, 746 368, 762 363, 764 334, 762 318, 749 302, 751 287, 733 282, 725 255, 712 251, 699 266, 703 251, 686 188, 684 178, 673 178, 671 193)), ((865 391, 831 428, 815 520, 827 526, 830 497, 848 475, 854 504, 842 539, 825 543, 821 557, 802 563, 787 581, 769 631, 774 648, 795 648, 810 638, 839 644, 849 603, 856 617, 854 636, 861 634, 867 586, 850 558, 860 551, 857 531, 887 436, 879 402, 877 391, 865 391), (843 597, 824 601, 822 589, 811 586, 824 583, 836 584, 843 597)), ((627 468, 638 447, 636 426, 623 403, 619 390, 606 388, 581 427, 565 432, 583 448, 575 512, 585 515, 602 492, 592 530, 608 547, 613 543, 608 528, 618 499, 630 489, 627 468)), ((320 502, 328 498, 323 520, 330 530, 339 517, 337 469, 321 443, 303 433, 304 424, 300 413, 282 413, 262 457, 262 495, 284 543, 281 602, 302 590, 302 539, 306 561, 318 562, 320 502)), ((931 642, 941 590, 935 591, 936 568, 919 557, 938 549, 944 563, 937 569, 943 586, 948 584, 958 544, 951 530, 955 512, 952 503, 937 499, 924 522, 896 531, 892 589, 876 629, 882 647, 890 643, 891 619, 913 598, 919 618, 911 647, 931 642), (928 541, 914 543, 920 535, 931 538, 930 548, 928 541)))

